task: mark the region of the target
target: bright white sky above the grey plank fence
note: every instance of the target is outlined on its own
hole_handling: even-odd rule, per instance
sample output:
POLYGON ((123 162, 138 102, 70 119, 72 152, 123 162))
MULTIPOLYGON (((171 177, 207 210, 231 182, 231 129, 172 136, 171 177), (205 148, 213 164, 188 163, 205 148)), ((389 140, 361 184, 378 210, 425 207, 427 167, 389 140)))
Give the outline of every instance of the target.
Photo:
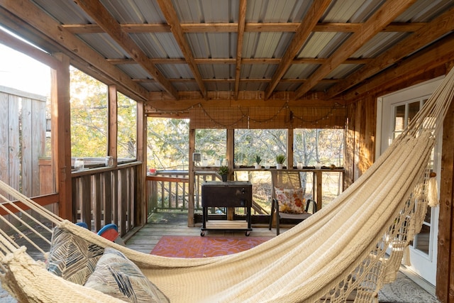
POLYGON ((0 44, 0 86, 48 96, 50 68, 0 44))

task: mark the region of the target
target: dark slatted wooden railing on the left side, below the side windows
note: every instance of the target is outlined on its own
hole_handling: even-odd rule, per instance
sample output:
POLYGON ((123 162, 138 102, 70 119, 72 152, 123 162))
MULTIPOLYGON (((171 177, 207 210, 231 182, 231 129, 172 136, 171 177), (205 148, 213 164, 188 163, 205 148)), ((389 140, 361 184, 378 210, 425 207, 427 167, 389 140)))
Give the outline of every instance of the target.
POLYGON ((72 173, 74 221, 99 231, 114 223, 121 235, 135 227, 137 174, 141 162, 99 167, 72 173))

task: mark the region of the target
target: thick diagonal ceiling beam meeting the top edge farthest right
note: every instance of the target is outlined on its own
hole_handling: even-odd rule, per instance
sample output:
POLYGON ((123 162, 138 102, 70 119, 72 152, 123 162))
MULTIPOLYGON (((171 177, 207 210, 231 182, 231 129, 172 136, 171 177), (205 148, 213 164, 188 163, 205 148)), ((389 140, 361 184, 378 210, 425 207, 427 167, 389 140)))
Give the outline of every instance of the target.
POLYGON ((296 91, 296 97, 301 98, 309 92, 319 80, 323 79, 336 67, 362 47, 368 40, 377 35, 382 28, 391 23, 401 13, 408 9, 416 0, 387 1, 380 6, 375 13, 362 25, 361 30, 350 35, 345 43, 336 50, 328 60, 321 65, 309 80, 301 85, 296 91))

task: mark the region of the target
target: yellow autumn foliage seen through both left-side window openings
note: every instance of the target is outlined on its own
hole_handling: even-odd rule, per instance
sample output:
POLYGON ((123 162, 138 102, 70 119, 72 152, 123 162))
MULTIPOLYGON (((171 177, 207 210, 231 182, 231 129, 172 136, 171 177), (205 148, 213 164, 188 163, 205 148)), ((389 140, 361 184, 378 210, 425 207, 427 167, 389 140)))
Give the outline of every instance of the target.
MULTIPOLYGON (((71 153, 72 157, 104 158, 107 155, 107 86, 71 67, 71 153)), ((137 104, 117 94, 118 158, 137 157, 137 104)))

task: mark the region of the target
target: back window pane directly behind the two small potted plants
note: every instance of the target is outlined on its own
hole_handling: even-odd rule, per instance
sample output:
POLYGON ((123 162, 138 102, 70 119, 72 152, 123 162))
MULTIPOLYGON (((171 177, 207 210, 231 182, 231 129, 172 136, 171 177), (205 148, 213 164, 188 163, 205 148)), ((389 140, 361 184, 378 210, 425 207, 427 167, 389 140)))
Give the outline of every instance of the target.
POLYGON ((277 155, 287 154, 287 129, 236 129, 236 165, 252 166, 255 156, 262 166, 275 166, 277 155))

